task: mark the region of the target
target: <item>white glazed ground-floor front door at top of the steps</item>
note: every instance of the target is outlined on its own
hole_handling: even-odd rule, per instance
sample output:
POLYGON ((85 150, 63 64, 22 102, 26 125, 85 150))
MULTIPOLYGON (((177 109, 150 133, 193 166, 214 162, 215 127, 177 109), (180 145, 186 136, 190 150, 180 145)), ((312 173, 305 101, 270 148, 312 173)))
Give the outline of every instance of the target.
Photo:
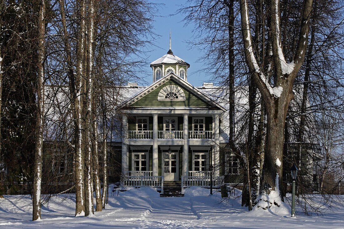
POLYGON ((163 152, 164 181, 178 181, 178 153, 163 152))

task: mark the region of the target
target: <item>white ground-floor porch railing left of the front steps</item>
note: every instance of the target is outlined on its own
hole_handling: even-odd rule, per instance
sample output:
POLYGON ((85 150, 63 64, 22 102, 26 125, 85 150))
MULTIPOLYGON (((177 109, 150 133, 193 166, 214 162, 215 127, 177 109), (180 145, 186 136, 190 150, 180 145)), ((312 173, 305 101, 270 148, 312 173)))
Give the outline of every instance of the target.
POLYGON ((127 176, 124 179, 124 186, 152 186, 161 187, 161 192, 163 192, 163 176, 127 176))

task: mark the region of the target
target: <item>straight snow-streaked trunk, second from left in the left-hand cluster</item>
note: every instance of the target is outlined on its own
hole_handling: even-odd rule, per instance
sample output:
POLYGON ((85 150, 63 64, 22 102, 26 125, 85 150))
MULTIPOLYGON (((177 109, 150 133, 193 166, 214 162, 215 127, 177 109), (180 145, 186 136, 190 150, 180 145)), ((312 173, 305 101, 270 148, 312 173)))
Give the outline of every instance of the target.
POLYGON ((88 2, 87 16, 87 66, 86 66, 86 91, 84 95, 84 149, 85 149, 85 216, 93 215, 93 174, 92 151, 90 142, 90 120, 92 118, 93 99, 93 39, 94 39, 94 6, 93 0, 88 2))

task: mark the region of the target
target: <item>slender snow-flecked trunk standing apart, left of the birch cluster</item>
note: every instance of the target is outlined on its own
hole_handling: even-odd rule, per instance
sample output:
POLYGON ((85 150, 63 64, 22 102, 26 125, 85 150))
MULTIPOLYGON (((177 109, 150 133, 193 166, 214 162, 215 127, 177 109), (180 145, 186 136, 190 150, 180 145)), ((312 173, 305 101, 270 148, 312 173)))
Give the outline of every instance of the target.
POLYGON ((45 35, 45 0, 40 1, 38 14, 38 60, 37 60, 37 114, 35 130, 35 157, 33 172, 32 221, 41 219, 41 182, 42 182, 42 150, 44 126, 44 35, 45 35))

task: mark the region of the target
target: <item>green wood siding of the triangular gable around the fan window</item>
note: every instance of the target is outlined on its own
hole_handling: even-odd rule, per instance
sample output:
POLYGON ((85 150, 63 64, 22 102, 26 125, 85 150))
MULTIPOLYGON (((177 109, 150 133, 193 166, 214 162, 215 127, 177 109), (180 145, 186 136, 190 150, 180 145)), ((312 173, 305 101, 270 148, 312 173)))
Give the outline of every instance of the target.
POLYGON ((147 95, 143 96, 138 101, 134 102, 131 107, 211 107, 206 102, 197 98, 197 96, 192 92, 187 90, 182 85, 177 84, 173 79, 170 79, 163 85, 154 89, 147 95), (159 91, 167 85, 177 85, 180 86, 185 93, 185 101, 158 101, 159 91))

